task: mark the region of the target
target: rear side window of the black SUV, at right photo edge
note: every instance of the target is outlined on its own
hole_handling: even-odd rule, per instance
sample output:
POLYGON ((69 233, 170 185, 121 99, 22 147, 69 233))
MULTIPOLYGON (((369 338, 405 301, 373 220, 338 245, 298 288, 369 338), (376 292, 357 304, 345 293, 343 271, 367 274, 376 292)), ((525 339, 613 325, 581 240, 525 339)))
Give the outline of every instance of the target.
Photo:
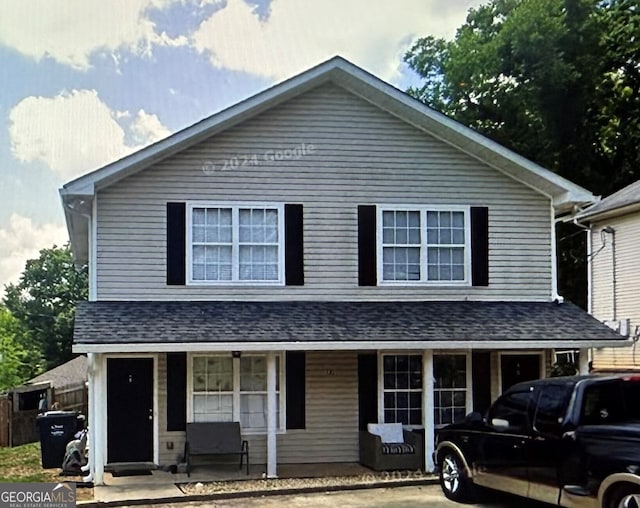
POLYGON ((640 380, 615 379, 588 386, 580 422, 583 425, 640 419, 640 380))

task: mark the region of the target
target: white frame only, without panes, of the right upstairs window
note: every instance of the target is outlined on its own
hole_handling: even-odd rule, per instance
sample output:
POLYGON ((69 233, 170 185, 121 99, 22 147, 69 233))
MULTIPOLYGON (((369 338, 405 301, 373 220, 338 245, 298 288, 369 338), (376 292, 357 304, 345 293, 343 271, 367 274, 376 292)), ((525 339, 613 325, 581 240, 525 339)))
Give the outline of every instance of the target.
MULTIPOLYGON (((381 286, 470 286, 471 285, 471 207, 462 205, 378 205, 376 207, 376 245, 377 276, 381 286), (385 280, 383 214, 384 212, 420 212, 420 279, 385 280), (427 278, 427 212, 463 212, 464 213, 464 278, 463 280, 429 280, 427 278)), ((443 245, 444 246, 444 245, 443 245)))

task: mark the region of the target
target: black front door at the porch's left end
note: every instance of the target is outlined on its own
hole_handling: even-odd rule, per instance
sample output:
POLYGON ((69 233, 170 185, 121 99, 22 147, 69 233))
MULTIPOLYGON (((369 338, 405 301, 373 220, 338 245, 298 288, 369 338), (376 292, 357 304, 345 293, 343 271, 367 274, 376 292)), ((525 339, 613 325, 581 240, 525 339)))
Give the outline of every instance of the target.
POLYGON ((107 461, 153 461, 153 358, 107 358, 107 461))

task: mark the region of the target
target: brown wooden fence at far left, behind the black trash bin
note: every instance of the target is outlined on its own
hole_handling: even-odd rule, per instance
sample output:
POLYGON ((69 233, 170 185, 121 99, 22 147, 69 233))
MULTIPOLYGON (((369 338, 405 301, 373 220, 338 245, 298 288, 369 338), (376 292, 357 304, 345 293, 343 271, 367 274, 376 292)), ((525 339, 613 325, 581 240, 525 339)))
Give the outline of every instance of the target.
MULTIPOLYGON (((85 383, 52 388, 51 394, 51 400, 58 403, 59 409, 77 411, 85 415, 85 418, 88 418, 88 391, 85 383)), ((11 396, 1 396, 0 447, 19 446, 39 441, 40 434, 36 425, 37 416, 37 409, 14 411, 14 401, 11 396)))

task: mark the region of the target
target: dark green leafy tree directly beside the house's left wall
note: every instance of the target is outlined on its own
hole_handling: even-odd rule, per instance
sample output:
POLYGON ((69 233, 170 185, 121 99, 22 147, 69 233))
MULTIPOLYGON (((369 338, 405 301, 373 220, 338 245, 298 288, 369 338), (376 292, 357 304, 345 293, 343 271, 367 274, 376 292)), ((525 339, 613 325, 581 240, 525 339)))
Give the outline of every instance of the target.
POLYGON ((18 284, 5 287, 4 304, 25 328, 29 345, 46 369, 72 358, 76 302, 87 299, 87 272, 73 264, 71 250, 53 246, 27 261, 18 284))

